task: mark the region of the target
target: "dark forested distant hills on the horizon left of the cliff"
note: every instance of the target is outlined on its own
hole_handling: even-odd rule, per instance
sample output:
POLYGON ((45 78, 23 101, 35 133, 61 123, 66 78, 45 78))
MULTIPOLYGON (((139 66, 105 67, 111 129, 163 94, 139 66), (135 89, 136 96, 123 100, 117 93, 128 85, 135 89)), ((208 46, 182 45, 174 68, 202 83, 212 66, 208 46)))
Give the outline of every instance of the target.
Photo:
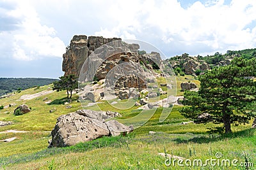
POLYGON ((52 78, 0 78, 0 96, 17 90, 49 85, 56 80, 52 78))

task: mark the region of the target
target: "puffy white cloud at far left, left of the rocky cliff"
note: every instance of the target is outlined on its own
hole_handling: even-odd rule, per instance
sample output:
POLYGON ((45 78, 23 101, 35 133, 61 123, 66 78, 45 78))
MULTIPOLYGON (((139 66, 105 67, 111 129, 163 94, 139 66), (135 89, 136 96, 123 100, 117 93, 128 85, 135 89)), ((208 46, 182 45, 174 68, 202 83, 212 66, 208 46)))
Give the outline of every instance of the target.
POLYGON ((28 1, 16 1, 15 8, 6 10, 4 15, 15 18, 18 22, 15 24, 16 29, 0 32, 0 37, 12 39, 8 41, 12 53, 5 53, 8 56, 3 57, 13 57, 17 60, 62 57, 65 44, 56 37, 54 28, 40 23, 35 8, 28 1))

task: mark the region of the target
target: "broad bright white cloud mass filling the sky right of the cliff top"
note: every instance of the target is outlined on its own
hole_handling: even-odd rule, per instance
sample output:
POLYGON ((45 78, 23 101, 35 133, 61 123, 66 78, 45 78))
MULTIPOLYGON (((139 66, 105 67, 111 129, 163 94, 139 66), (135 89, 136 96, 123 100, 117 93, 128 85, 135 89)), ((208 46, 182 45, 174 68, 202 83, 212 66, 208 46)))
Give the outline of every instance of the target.
POLYGON ((138 2, 115 2, 116 10, 109 8, 108 15, 116 24, 95 33, 124 38, 132 35, 156 46, 160 44, 154 42, 162 41, 162 49, 179 44, 180 50, 193 55, 256 47, 256 25, 248 26, 256 22, 255 0, 233 0, 228 5, 224 0, 197 1, 187 9, 177 0, 138 2))

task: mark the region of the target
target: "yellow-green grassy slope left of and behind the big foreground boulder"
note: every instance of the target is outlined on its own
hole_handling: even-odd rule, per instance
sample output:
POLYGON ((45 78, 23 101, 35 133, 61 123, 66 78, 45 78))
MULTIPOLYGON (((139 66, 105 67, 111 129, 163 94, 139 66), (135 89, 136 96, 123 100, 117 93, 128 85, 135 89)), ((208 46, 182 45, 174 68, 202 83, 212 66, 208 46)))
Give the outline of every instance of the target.
POLYGON ((72 106, 70 109, 65 108, 66 106, 64 104, 45 104, 45 101, 43 101, 45 97, 47 97, 48 100, 51 100, 52 103, 54 103, 54 101, 65 100, 67 94, 64 91, 52 92, 51 94, 36 97, 27 101, 19 101, 20 96, 24 94, 35 94, 45 89, 47 89, 47 86, 40 87, 40 90, 28 89, 20 92, 20 94, 15 94, 15 96, 10 98, 1 99, 0 102, 3 103, 4 106, 11 103, 17 105, 0 111, 0 120, 12 121, 14 123, 13 125, 1 127, 0 131, 5 131, 7 129, 18 129, 22 131, 51 131, 56 123, 56 118, 60 115, 81 109, 81 103, 77 102, 77 95, 72 97, 72 103, 69 104, 72 106), (19 104, 27 104, 31 107, 31 111, 20 116, 13 115, 13 111, 19 104), (54 110, 54 108, 56 111, 50 113, 50 110, 54 110))

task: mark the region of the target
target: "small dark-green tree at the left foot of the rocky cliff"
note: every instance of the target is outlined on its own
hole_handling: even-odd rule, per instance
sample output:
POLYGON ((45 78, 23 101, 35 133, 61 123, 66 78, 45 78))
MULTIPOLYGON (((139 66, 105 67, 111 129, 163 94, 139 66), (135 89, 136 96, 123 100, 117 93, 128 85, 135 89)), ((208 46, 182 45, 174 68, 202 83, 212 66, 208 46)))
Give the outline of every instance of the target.
POLYGON ((54 87, 52 89, 57 90, 57 92, 66 90, 67 98, 71 99, 72 91, 78 87, 77 77, 74 74, 68 76, 60 76, 60 80, 53 82, 53 85, 54 87))

